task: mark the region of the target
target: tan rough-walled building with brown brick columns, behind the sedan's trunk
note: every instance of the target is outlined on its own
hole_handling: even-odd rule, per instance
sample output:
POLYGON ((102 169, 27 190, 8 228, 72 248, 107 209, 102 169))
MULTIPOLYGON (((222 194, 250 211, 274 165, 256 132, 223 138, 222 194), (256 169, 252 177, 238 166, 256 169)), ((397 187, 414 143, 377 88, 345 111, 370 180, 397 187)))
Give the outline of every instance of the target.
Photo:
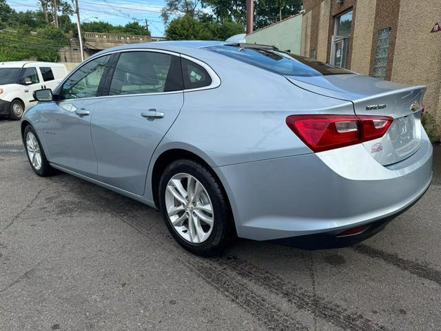
POLYGON ((426 85, 424 106, 441 123, 441 0, 304 0, 304 9, 302 55, 426 85))

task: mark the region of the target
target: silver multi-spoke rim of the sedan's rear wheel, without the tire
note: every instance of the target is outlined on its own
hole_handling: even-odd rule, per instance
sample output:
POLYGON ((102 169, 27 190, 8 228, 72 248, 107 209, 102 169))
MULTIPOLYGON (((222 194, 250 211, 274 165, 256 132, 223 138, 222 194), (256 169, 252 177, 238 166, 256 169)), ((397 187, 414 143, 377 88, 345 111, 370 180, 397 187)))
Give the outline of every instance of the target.
POLYGON ((167 183, 165 208, 174 230, 190 243, 203 243, 212 233, 212 201, 202 183, 191 174, 175 174, 167 183))

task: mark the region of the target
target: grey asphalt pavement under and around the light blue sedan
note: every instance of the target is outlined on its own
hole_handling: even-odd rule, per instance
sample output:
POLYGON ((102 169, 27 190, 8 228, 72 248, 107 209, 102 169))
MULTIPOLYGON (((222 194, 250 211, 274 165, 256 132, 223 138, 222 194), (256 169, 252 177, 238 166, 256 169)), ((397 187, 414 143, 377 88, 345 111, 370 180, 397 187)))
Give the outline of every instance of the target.
POLYGON ((159 212, 35 175, 0 119, 0 330, 441 330, 441 148, 427 194, 353 248, 202 259, 159 212))

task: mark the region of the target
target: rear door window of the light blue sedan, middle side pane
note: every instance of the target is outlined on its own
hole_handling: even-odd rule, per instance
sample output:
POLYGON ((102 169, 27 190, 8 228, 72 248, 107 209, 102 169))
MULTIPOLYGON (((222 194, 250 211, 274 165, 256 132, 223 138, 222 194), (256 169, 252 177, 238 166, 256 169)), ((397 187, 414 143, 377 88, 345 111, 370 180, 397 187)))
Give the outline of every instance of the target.
POLYGON ((110 83, 110 95, 183 90, 179 57, 157 52, 122 52, 110 83))

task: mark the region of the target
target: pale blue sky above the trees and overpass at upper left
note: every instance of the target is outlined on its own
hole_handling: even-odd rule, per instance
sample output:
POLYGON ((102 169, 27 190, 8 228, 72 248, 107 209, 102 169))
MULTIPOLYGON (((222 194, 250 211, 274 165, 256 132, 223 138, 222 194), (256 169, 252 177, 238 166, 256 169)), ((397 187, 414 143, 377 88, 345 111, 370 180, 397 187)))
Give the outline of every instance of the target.
MULTIPOLYGON (((71 0, 68 0, 71 2, 71 0)), ((17 11, 38 10, 38 0, 6 0, 8 5, 17 11)), ((106 21, 114 25, 125 25, 134 19, 145 25, 154 37, 164 35, 165 25, 161 19, 161 9, 165 0, 79 0, 81 20, 106 21)), ((76 21, 72 17, 72 21, 76 21)))

